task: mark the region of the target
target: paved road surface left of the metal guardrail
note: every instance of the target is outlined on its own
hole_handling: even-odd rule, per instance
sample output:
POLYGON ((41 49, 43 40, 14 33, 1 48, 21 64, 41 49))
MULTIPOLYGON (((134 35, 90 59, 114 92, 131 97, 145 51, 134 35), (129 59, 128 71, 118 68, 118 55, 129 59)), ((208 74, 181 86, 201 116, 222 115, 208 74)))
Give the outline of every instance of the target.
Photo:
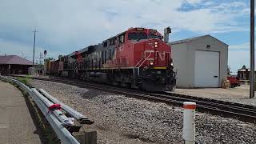
POLYGON ((0 114, 0 144, 42 143, 21 91, 1 81, 0 114))

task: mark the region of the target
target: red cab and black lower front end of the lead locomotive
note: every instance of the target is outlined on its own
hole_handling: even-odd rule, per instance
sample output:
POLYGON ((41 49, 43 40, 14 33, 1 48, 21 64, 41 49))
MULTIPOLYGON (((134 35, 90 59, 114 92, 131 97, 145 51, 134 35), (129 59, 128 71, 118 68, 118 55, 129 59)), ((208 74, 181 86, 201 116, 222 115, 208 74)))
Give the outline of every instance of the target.
POLYGON ((140 85, 144 90, 174 90, 170 46, 162 41, 157 30, 131 28, 118 34, 117 40, 116 66, 133 68, 134 86, 140 85), (159 82, 159 87, 155 82, 159 82))

